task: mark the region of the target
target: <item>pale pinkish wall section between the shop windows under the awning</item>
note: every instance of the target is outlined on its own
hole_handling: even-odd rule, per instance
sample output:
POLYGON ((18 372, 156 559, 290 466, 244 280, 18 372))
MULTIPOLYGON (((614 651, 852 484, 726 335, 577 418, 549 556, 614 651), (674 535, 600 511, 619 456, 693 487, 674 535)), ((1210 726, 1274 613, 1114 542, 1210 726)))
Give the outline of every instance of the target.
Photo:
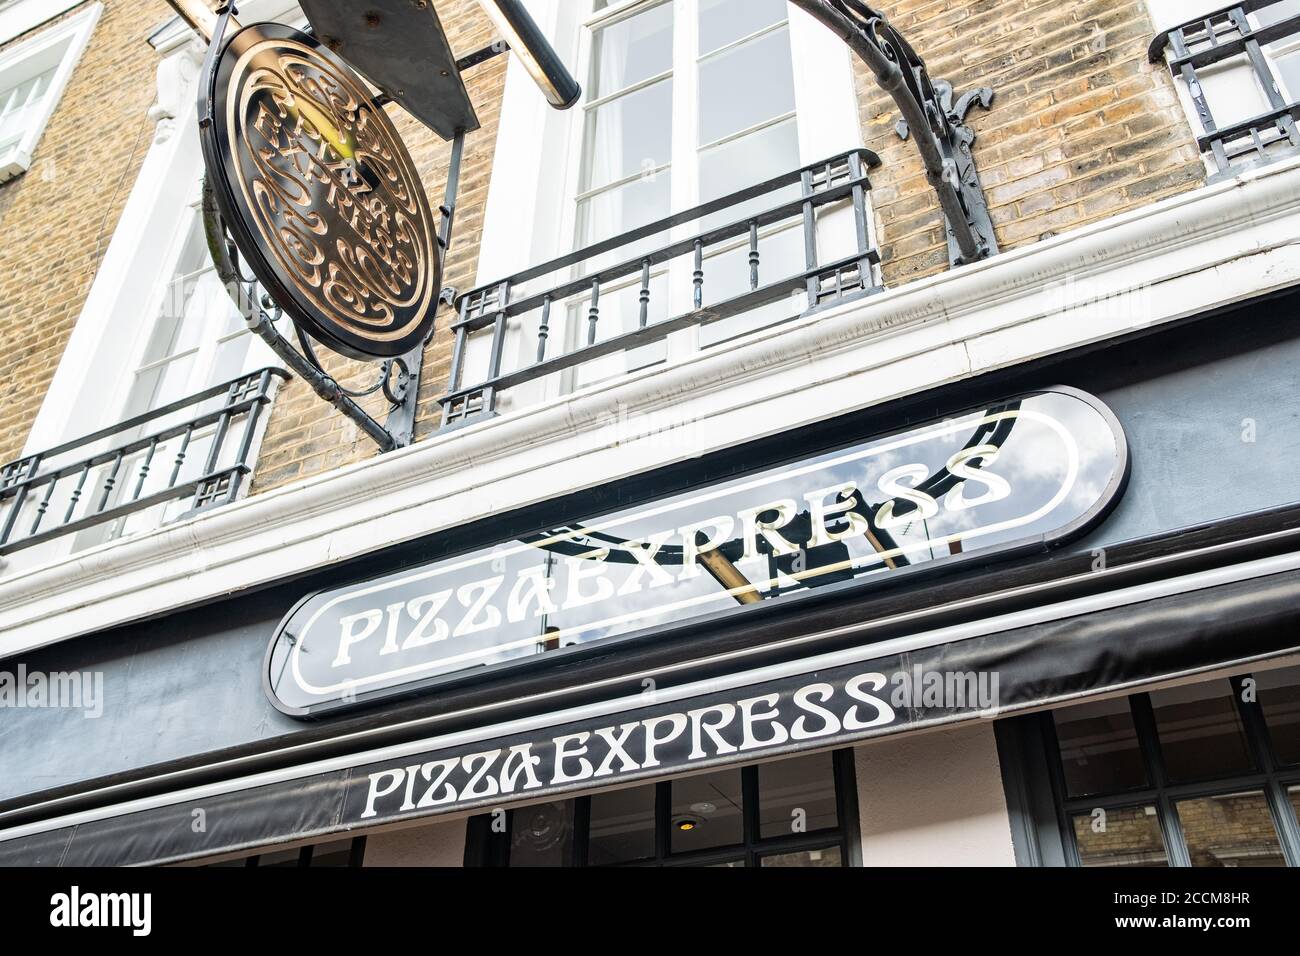
POLYGON ((1015 866, 993 724, 857 748, 863 866, 1015 866))

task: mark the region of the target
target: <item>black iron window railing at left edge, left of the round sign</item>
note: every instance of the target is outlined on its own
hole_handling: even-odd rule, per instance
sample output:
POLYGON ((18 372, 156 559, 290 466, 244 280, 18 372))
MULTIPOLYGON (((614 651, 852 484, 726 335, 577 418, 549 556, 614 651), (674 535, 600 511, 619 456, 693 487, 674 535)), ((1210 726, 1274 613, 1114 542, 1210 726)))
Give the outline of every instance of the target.
POLYGON ((186 499, 188 512, 234 501, 285 377, 264 368, 0 467, 0 554, 186 499))

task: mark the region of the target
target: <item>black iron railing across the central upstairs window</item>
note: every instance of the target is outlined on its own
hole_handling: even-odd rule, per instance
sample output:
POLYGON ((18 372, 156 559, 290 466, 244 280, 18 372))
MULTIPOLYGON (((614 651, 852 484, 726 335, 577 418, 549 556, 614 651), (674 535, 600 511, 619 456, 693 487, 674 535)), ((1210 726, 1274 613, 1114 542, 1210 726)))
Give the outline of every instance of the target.
MULTIPOLYGON (((458 297, 459 320, 451 326, 455 345, 448 392, 441 399, 443 427, 493 415, 498 397, 508 388, 660 342, 690 326, 740 316, 792 294, 806 295, 801 311, 807 312, 846 297, 879 291, 874 267, 880 258, 871 243, 866 203, 867 190, 871 189, 867 169, 878 164, 879 159, 870 150, 854 150, 458 297), (781 199, 781 194, 789 198, 781 199), (760 212, 750 212, 764 199, 772 200, 772 204, 760 212), (819 255, 818 222, 819 215, 832 204, 852 206, 854 235, 848 255, 824 260, 819 255), (725 225, 712 225, 718 220, 725 221, 725 225), (771 230, 783 226, 802 230, 802 251, 797 263, 783 261, 772 268, 764 260, 760 237, 766 238, 771 230), (685 238, 673 238, 682 232, 686 232, 685 238), (707 284, 716 274, 706 268, 711 254, 724 247, 744 252, 744 237, 748 237, 748 255, 734 258, 744 271, 744 290, 720 302, 706 303, 707 284), (642 251, 646 245, 658 242, 663 245, 642 251), (611 260, 612 264, 602 264, 611 260), (681 263, 676 272, 672 271, 675 260, 681 263), (667 269, 668 280, 676 277, 682 284, 689 282, 689 290, 684 289, 682 297, 690 304, 677 315, 651 321, 654 282, 663 278, 654 274, 656 269, 667 269), (768 269, 777 277, 764 278, 768 269), (555 276, 566 277, 555 280, 555 276), (545 289, 530 287, 538 280, 547 280, 545 289), (629 280, 630 286, 624 286, 624 290, 636 289, 636 315, 634 321, 624 324, 632 328, 604 334, 602 291, 629 280), (575 302, 584 313, 580 320, 585 326, 576 336, 571 329, 569 347, 556 350, 552 334, 555 312, 572 308, 575 302), (523 323, 515 320, 530 313, 536 316, 536 332, 524 332, 523 323), (507 369, 506 342, 512 334, 536 336, 536 360, 507 369), (486 336, 490 341, 486 373, 467 384, 467 355, 477 336, 486 336)), ((729 285, 734 285, 736 276, 728 280, 729 285)), ((528 358, 532 359, 532 354, 528 358)))

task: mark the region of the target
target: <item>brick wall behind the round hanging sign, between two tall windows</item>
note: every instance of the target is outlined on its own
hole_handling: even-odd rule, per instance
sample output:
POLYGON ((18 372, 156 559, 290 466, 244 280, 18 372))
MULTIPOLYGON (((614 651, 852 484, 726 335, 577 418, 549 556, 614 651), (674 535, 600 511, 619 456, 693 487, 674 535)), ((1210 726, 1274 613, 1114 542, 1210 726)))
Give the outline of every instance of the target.
MULTIPOLYGON (((481 49, 493 42, 491 23, 484 16, 477 0, 437 0, 436 5, 456 56, 481 49)), ((497 147, 497 125, 506 87, 506 59, 497 57, 474 68, 465 74, 465 81, 482 129, 471 133, 465 139, 456 232, 443 277, 443 286, 455 289, 473 286, 478 267, 484 208, 488 203, 488 185, 497 147)), ((447 179, 450 143, 442 142, 396 107, 389 107, 389 114, 411 150, 429 194, 430 206, 437 209, 442 204, 447 179)), ((446 307, 439 308, 438 330, 425 352, 416 419, 417 440, 426 437, 442 421, 437 399, 446 389, 451 365, 451 334, 447 328, 452 319, 446 307)), ((326 356, 332 354, 321 350, 322 362, 326 356)), ((377 378, 376 368, 373 364, 350 362, 339 356, 332 356, 326 362, 326 371, 350 389, 373 385, 377 378)), ((387 403, 382 395, 365 399, 363 406, 380 421, 384 420, 387 403)), ((377 454, 374 442, 350 419, 325 405, 303 381, 294 380, 276 399, 252 493, 266 492, 374 454, 377 454)))

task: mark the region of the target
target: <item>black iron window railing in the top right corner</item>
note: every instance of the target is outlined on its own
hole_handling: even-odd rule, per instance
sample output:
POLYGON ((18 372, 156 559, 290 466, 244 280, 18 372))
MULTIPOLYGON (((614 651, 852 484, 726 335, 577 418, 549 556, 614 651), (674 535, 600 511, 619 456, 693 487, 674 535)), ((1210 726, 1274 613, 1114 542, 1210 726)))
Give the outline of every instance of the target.
POLYGON ((1270 43, 1300 34, 1300 14, 1280 16, 1282 3, 1286 0, 1240 0, 1206 17, 1166 30, 1152 40, 1148 51, 1152 62, 1166 59, 1170 72, 1187 85, 1201 124, 1197 146, 1202 153, 1214 157, 1219 176, 1231 174, 1234 164, 1269 161, 1279 155, 1300 151, 1300 131, 1296 129, 1300 101, 1286 96, 1278 87, 1264 51, 1270 43), (1273 12, 1278 14, 1277 18, 1269 16, 1273 12), (1262 20, 1262 25, 1252 25, 1251 14, 1262 20), (1197 70, 1234 57, 1245 57, 1249 62, 1268 98, 1269 108, 1257 116, 1221 126, 1210 111, 1197 70))

